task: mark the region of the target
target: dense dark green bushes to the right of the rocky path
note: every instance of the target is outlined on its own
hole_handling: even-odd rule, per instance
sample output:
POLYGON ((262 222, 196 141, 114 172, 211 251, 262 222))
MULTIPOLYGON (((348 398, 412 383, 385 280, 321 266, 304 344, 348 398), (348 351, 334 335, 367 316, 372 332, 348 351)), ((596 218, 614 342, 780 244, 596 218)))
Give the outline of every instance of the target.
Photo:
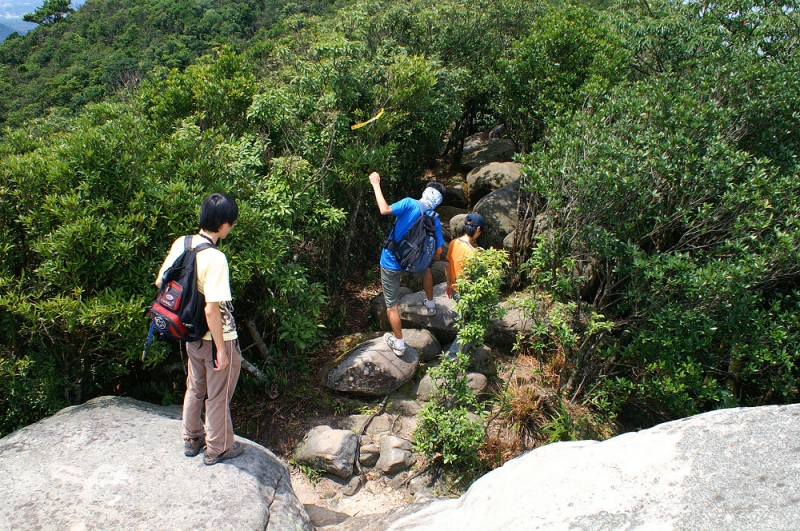
POLYGON ((632 79, 589 92, 526 159, 535 283, 614 322, 590 330, 575 306, 566 345, 569 381, 606 413, 797 400, 796 7, 628 6, 632 79))

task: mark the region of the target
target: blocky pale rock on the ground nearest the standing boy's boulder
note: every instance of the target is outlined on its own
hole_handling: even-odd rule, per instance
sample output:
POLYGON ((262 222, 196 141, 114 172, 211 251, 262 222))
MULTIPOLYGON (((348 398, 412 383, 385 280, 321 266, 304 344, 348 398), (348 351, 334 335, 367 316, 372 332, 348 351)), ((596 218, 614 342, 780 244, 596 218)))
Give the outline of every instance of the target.
POLYGON ((353 474, 357 449, 358 437, 352 431, 317 426, 306 433, 293 457, 301 465, 346 478, 353 474))

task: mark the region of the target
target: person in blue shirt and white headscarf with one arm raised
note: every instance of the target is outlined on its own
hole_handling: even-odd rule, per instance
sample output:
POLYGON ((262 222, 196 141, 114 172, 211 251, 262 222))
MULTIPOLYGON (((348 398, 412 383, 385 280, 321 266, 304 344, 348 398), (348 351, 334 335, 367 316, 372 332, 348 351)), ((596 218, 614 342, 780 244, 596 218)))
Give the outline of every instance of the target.
MULTIPOLYGON (((372 190, 375 192, 375 201, 378 203, 378 209, 381 214, 385 216, 391 214, 397 218, 394 228, 395 241, 402 239, 417 218, 423 215, 420 201, 427 207, 424 214, 433 215, 433 210, 442 204, 445 194, 444 186, 431 182, 422 192, 420 201, 406 197, 397 203, 389 205, 383 197, 381 176, 378 172, 372 172, 369 175, 369 182, 372 184, 372 190)), ((438 260, 442 254, 444 238, 442 237, 442 225, 439 223, 438 217, 436 217, 435 224, 437 249, 433 259, 438 260)), ((402 275, 403 268, 397 263, 394 254, 389 249, 384 248, 381 253, 381 284, 383 285, 383 297, 386 300, 386 316, 389 318, 392 331, 383 337, 386 344, 397 356, 402 356, 406 349, 406 343, 403 340, 403 328, 400 322, 400 309, 398 308, 398 303, 400 302, 400 277, 402 275)), ((422 274, 422 288, 425 291, 425 309, 428 315, 436 315, 436 304, 433 302, 433 276, 430 268, 426 269, 422 274)))

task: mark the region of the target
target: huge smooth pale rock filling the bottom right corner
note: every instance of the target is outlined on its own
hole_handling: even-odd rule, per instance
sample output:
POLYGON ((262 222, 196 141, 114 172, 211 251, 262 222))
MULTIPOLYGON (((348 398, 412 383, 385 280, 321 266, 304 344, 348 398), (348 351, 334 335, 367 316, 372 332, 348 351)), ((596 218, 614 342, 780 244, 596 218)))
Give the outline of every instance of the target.
POLYGON ((388 529, 797 529, 798 439, 800 405, 790 405, 551 444, 388 529))

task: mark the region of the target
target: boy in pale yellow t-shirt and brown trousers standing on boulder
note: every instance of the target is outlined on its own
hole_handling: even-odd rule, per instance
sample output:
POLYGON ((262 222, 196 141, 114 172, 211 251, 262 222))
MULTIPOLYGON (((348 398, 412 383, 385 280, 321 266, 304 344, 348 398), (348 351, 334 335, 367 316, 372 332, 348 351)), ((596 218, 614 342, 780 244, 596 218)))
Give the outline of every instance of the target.
MULTIPOLYGON (((192 247, 204 241, 216 246, 236 225, 239 207, 227 194, 211 194, 200 207, 200 232, 192 238, 192 247)), ((164 271, 184 251, 184 237, 172 244, 156 286, 161 287, 164 271)), ((206 249, 197 253, 197 289, 205 296, 205 314, 208 332, 200 341, 186 344, 189 358, 186 378, 186 395, 183 400, 181 432, 183 453, 194 457, 205 448, 203 463, 213 465, 241 454, 243 447, 236 442, 231 422, 230 402, 242 355, 233 320, 233 304, 228 271, 228 260, 217 250, 206 249), (205 426, 200 413, 205 405, 205 426)))

